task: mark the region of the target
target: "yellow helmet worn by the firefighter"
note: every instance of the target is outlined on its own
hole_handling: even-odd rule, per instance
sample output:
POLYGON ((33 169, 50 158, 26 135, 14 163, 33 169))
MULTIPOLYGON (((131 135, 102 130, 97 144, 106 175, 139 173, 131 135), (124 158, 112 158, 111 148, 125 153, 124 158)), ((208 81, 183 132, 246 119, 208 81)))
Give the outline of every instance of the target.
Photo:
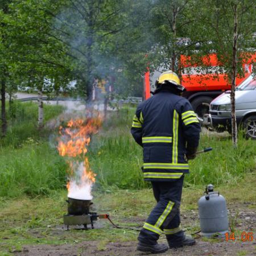
POLYGON ((177 90, 180 90, 181 92, 184 92, 185 87, 181 85, 179 76, 177 76, 176 73, 170 71, 163 72, 159 77, 158 80, 155 81, 156 87, 159 87, 159 85, 170 85, 174 86, 177 90))

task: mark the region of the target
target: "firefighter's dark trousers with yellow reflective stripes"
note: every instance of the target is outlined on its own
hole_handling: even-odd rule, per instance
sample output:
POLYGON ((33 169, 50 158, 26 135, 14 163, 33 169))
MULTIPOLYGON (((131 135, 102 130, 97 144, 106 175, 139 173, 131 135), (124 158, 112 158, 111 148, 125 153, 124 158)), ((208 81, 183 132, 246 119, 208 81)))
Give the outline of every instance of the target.
POLYGON ((139 241, 154 245, 163 232, 172 245, 183 239, 184 232, 180 228, 183 180, 184 175, 173 181, 151 181, 157 204, 139 233, 139 241))

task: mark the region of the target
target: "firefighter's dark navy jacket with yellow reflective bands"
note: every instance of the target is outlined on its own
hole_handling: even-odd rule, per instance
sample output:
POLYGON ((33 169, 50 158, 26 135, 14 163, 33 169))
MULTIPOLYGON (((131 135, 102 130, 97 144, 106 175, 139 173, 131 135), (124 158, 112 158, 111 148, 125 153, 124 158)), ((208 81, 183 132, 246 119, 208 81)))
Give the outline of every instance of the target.
POLYGON ((189 101, 160 91, 138 105, 131 134, 143 147, 145 180, 170 181, 189 172, 186 148, 197 147, 200 124, 189 101))

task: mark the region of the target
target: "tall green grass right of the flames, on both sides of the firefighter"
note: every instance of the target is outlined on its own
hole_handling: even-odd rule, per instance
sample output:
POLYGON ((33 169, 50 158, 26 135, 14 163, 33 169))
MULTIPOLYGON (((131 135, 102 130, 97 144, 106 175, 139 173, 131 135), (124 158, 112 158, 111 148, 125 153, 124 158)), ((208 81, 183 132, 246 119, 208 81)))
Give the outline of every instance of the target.
MULTIPOLYGON (((104 187, 144 188, 142 178, 142 148, 130 135, 134 110, 121 110, 109 117, 104 133, 93 138, 90 161, 97 181, 104 187)), ((256 170, 256 143, 240 136, 234 149, 230 137, 216 133, 201 135, 199 149, 213 147, 213 151, 189 161, 190 174, 186 185, 215 185, 236 183, 247 173, 256 170)))

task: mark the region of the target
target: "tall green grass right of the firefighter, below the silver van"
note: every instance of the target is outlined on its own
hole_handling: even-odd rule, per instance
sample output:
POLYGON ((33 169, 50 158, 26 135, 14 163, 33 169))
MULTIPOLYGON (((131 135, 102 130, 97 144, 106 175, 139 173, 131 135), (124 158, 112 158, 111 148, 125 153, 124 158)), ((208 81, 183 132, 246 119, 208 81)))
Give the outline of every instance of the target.
POLYGON ((191 174, 187 175, 187 184, 215 185, 237 183, 242 177, 256 168, 256 144, 242 137, 238 147, 232 147, 230 137, 218 138, 214 135, 202 135, 200 147, 213 147, 213 151, 197 156, 190 162, 191 174))

